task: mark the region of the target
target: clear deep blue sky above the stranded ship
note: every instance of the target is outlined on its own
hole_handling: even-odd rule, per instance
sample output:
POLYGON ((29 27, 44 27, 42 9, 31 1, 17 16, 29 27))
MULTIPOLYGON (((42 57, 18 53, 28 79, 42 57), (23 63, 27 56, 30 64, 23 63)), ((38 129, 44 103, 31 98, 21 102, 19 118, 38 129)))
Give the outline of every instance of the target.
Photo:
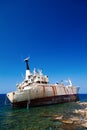
POLYGON ((16 89, 30 68, 50 82, 71 78, 87 93, 87 1, 0 1, 0 93, 16 89))

